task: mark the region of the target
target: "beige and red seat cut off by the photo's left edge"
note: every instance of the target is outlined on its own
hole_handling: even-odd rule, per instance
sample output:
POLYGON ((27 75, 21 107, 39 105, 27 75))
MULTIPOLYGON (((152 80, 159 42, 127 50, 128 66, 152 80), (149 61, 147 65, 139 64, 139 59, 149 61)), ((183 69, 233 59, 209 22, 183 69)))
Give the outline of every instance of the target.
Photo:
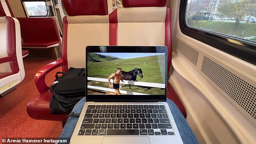
POLYGON ((7 4, 0 1, 0 96, 16 88, 25 77, 21 51, 19 21, 5 12, 7 4))

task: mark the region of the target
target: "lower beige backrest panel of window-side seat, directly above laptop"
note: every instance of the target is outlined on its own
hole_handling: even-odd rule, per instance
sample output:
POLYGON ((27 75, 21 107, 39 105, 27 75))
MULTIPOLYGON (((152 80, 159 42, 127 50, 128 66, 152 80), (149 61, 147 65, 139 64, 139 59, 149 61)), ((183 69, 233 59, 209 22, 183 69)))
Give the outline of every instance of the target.
POLYGON ((118 45, 164 45, 164 39, 164 23, 118 23, 118 45))

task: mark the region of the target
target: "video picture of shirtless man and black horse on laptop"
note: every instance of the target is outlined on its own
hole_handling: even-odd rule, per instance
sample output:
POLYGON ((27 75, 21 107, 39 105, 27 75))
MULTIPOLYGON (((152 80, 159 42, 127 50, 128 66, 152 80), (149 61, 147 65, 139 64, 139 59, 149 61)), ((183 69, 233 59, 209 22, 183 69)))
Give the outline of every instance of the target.
POLYGON ((88 53, 88 95, 165 95, 165 53, 88 53))

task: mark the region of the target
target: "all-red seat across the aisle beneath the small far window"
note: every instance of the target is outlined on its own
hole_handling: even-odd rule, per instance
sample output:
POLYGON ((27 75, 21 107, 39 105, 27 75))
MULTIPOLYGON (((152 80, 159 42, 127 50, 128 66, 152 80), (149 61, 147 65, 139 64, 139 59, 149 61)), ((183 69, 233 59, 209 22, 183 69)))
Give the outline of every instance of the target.
POLYGON ((23 49, 52 48, 55 58, 59 58, 60 34, 54 17, 17 19, 21 25, 21 45, 23 49))

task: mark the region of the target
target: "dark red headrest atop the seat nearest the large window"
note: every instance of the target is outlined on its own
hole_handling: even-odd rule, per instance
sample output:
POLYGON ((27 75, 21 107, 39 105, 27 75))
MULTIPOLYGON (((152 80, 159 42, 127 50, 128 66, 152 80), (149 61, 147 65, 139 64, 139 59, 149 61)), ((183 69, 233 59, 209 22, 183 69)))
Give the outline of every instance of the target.
POLYGON ((125 8, 150 6, 163 7, 166 5, 166 1, 167 0, 122 0, 125 8))

